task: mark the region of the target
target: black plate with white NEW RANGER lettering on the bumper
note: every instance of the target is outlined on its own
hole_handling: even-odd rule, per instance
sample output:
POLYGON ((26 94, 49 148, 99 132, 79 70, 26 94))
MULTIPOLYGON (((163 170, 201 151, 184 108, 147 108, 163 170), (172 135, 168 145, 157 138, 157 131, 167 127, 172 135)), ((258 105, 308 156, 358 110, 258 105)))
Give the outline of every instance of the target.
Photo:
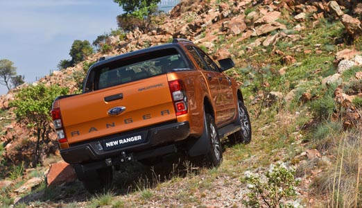
POLYGON ((144 134, 132 134, 126 135, 123 137, 116 137, 112 139, 106 139, 103 141, 103 150, 114 150, 118 148, 123 148, 126 146, 132 146, 135 144, 141 144, 146 141, 144 134))

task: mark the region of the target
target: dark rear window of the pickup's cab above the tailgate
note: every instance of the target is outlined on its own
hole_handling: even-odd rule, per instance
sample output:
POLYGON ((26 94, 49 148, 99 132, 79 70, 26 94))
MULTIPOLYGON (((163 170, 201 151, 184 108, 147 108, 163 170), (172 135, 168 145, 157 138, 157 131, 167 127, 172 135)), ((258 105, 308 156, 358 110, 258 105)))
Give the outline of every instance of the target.
POLYGON ((176 49, 144 53, 94 68, 89 73, 85 92, 159 76, 172 69, 186 67, 184 59, 176 49))

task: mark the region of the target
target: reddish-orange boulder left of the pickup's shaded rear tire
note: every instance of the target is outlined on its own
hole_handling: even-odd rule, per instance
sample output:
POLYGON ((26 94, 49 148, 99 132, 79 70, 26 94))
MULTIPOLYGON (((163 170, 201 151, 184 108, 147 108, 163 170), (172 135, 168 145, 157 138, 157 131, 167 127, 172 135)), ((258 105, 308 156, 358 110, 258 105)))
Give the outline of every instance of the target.
POLYGON ((46 184, 48 187, 57 186, 65 182, 73 182, 76 180, 76 172, 74 168, 64 161, 51 165, 49 173, 46 175, 46 184))

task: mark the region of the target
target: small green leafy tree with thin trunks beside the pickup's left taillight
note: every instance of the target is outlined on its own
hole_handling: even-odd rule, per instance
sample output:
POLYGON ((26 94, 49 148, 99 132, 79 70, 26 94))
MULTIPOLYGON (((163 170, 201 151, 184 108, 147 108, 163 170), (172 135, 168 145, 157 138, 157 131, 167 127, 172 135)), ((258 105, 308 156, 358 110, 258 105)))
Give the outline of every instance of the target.
POLYGON ((10 107, 15 107, 17 121, 35 130, 37 142, 35 144, 33 166, 40 162, 40 147, 49 144, 49 132, 51 131, 51 105, 57 96, 69 92, 67 88, 52 85, 35 85, 19 90, 15 95, 15 101, 10 107), (40 143, 40 141, 42 141, 40 143))

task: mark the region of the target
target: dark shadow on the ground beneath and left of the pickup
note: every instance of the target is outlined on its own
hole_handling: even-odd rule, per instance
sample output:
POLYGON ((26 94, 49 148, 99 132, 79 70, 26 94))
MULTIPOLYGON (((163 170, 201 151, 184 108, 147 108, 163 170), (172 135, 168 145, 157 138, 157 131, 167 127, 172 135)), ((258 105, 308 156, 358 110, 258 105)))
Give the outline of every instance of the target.
MULTIPOLYGON (((226 148, 234 146, 234 142, 228 139, 222 140, 223 151, 226 148)), ((115 196, 127 195, 135 191, 144 189, 155 189, 157 185, 172 180, 175 177, 187 177, 190 175, 198 175, 203 168, 201 158, 193 158, 184 156, 183 154, 166 155, 153 160, 141 162, 125 163, 119 170, 114 170, 113 186, 110 190, 105 190, 103 193, 112 193, 115 196)), ((68 203, 87 202, 89 199, 99 196, 99 194, 89 193, 83 184, 69 182, 58 187, 38 189, 32 193, 23 196, 15 202, 31 203, 39 202, 54 202, 62 205, 68 203)))

